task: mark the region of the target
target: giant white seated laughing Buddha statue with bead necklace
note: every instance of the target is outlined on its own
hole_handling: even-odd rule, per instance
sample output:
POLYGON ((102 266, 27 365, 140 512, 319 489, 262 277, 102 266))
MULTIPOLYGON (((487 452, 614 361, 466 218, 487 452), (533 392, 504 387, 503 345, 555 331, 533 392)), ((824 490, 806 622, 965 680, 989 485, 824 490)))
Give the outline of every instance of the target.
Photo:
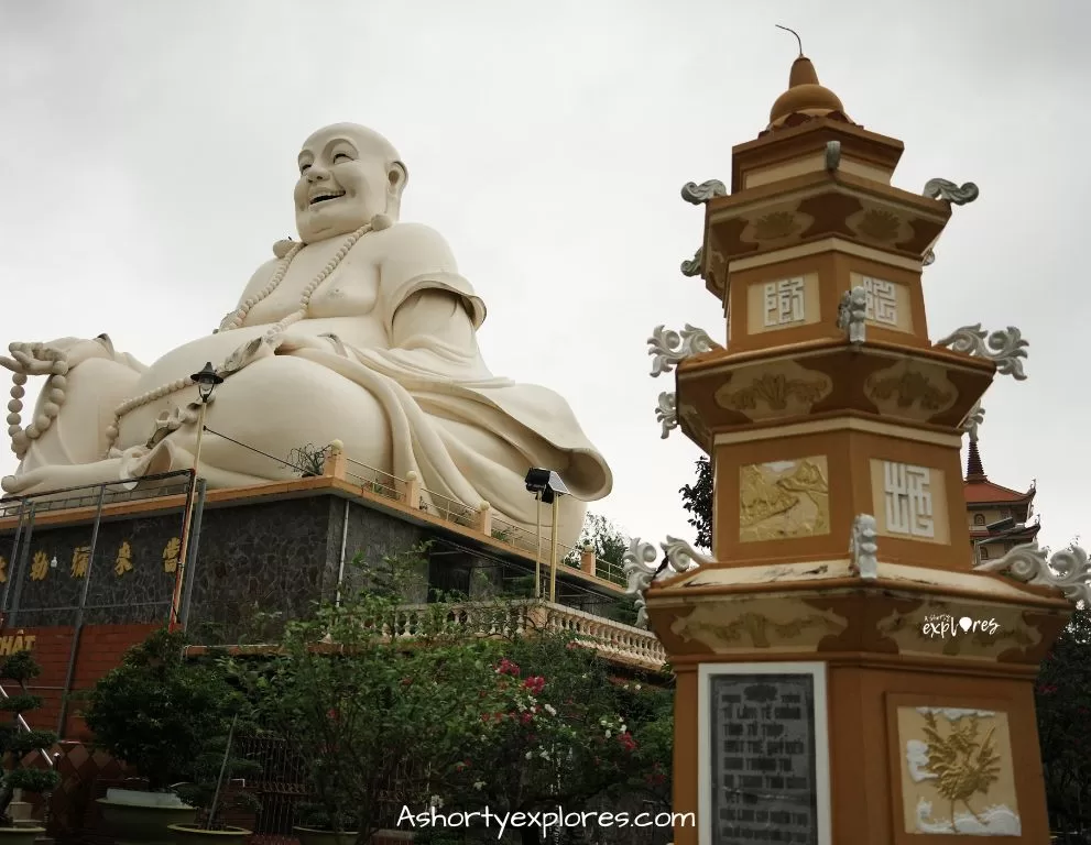
POLYGON ((0 364, 15 373, 8 431, 21 462, 3 490, 139 482, 193 467, 199 398, 188 375, 211 361, 225 381, 200 450, 210 487, 291 478, 260 452, 287 459, 340 440, 353 461, 403 480, 416 472, 428 491, 470 507, 488 502, 533 529, 524 478, 541 467, 571 493, 558 539, 574 544, 585 502, 610 492, 610 469, 560 396, 489 372, 476 337, 484 303, 438 233, 399 222, 407 174, 394 147, 337 124, 307 139, 298 168, 299 241, 274 246, 214 333, 151 366, 105 334, 11 344, 0 364), (47 382, 24 429, 31 375, 47 382))

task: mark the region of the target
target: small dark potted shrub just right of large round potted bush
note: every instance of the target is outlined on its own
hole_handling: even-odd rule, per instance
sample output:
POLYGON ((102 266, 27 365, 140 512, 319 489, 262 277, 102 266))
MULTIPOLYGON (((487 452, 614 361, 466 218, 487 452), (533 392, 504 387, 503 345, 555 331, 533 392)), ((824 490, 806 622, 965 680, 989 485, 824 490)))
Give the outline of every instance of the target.
MULTIPOLYGON (((177 845, 242 845, 253 831, 226 824, 223 813, 229 810, 242 810, 257 813, 261 803, 254 795, 242 790, 230 790, 232 778, 261 770, 252 760, 231 756, 234 738, 240 728, 237 713, 228 729, 226 738, 210 737, 207 751, 197 760, 196 782, 185 783, 177 788, 178 795, 192 806, 197 808, 195 824, 172 824, 177 845)), ((246 781, 243 780, 243 784, 246 781)))

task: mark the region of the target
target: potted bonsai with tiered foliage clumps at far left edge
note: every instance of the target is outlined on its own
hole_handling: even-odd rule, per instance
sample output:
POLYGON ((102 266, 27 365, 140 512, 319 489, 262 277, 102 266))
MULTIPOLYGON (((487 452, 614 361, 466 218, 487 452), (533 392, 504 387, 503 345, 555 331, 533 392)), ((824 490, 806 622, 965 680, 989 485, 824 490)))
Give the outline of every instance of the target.
POLYGON ((28 651, 19 651, 7 658, 0 666, 0 680, 14 681, 19 692, 0 700, 0 710, 7 711, 10 718, 0 724, 0 751, 3 756, 3 786, 0 787, 0 843, 3 845, 33 845, 34 838, 45 834, 44 827, 19 825, 10 815, 15 790, 22 792, 48 792, 61 781, 61 776, 52 768, 36 769, 25 765, 25 758, 40 749, 50 748, 57 742, 52 731, 31 731, 24 727, 24 713, 42 706, 42 699, 32 695, 26 682, 41 674, 42 670, 28 651))

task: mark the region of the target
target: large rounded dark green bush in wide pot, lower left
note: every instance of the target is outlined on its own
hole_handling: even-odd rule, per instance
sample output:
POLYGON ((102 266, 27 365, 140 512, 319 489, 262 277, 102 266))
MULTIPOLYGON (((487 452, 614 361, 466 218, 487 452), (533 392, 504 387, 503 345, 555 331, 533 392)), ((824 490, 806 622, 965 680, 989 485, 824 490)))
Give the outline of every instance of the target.
POLYGON ((110 789, 98 800, 120 842, 173 843, 168 826, 195 821, 197 809, 176 787, 196 780, 208 737, 228 733, 238 693, 217 663, 187 659, 186 644, 184 634, 152 634, 86 696, 95 746, 148 781, 146 791, 110 789))

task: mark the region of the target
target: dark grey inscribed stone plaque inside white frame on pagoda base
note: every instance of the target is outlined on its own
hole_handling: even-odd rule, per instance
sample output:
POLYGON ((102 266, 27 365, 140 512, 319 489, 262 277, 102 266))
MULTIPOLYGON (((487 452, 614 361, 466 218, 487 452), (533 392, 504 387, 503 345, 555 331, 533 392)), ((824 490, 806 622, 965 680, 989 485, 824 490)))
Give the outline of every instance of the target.
POLYGON ((819 845, 815 679, 709 679, 712 845, 819 845))

